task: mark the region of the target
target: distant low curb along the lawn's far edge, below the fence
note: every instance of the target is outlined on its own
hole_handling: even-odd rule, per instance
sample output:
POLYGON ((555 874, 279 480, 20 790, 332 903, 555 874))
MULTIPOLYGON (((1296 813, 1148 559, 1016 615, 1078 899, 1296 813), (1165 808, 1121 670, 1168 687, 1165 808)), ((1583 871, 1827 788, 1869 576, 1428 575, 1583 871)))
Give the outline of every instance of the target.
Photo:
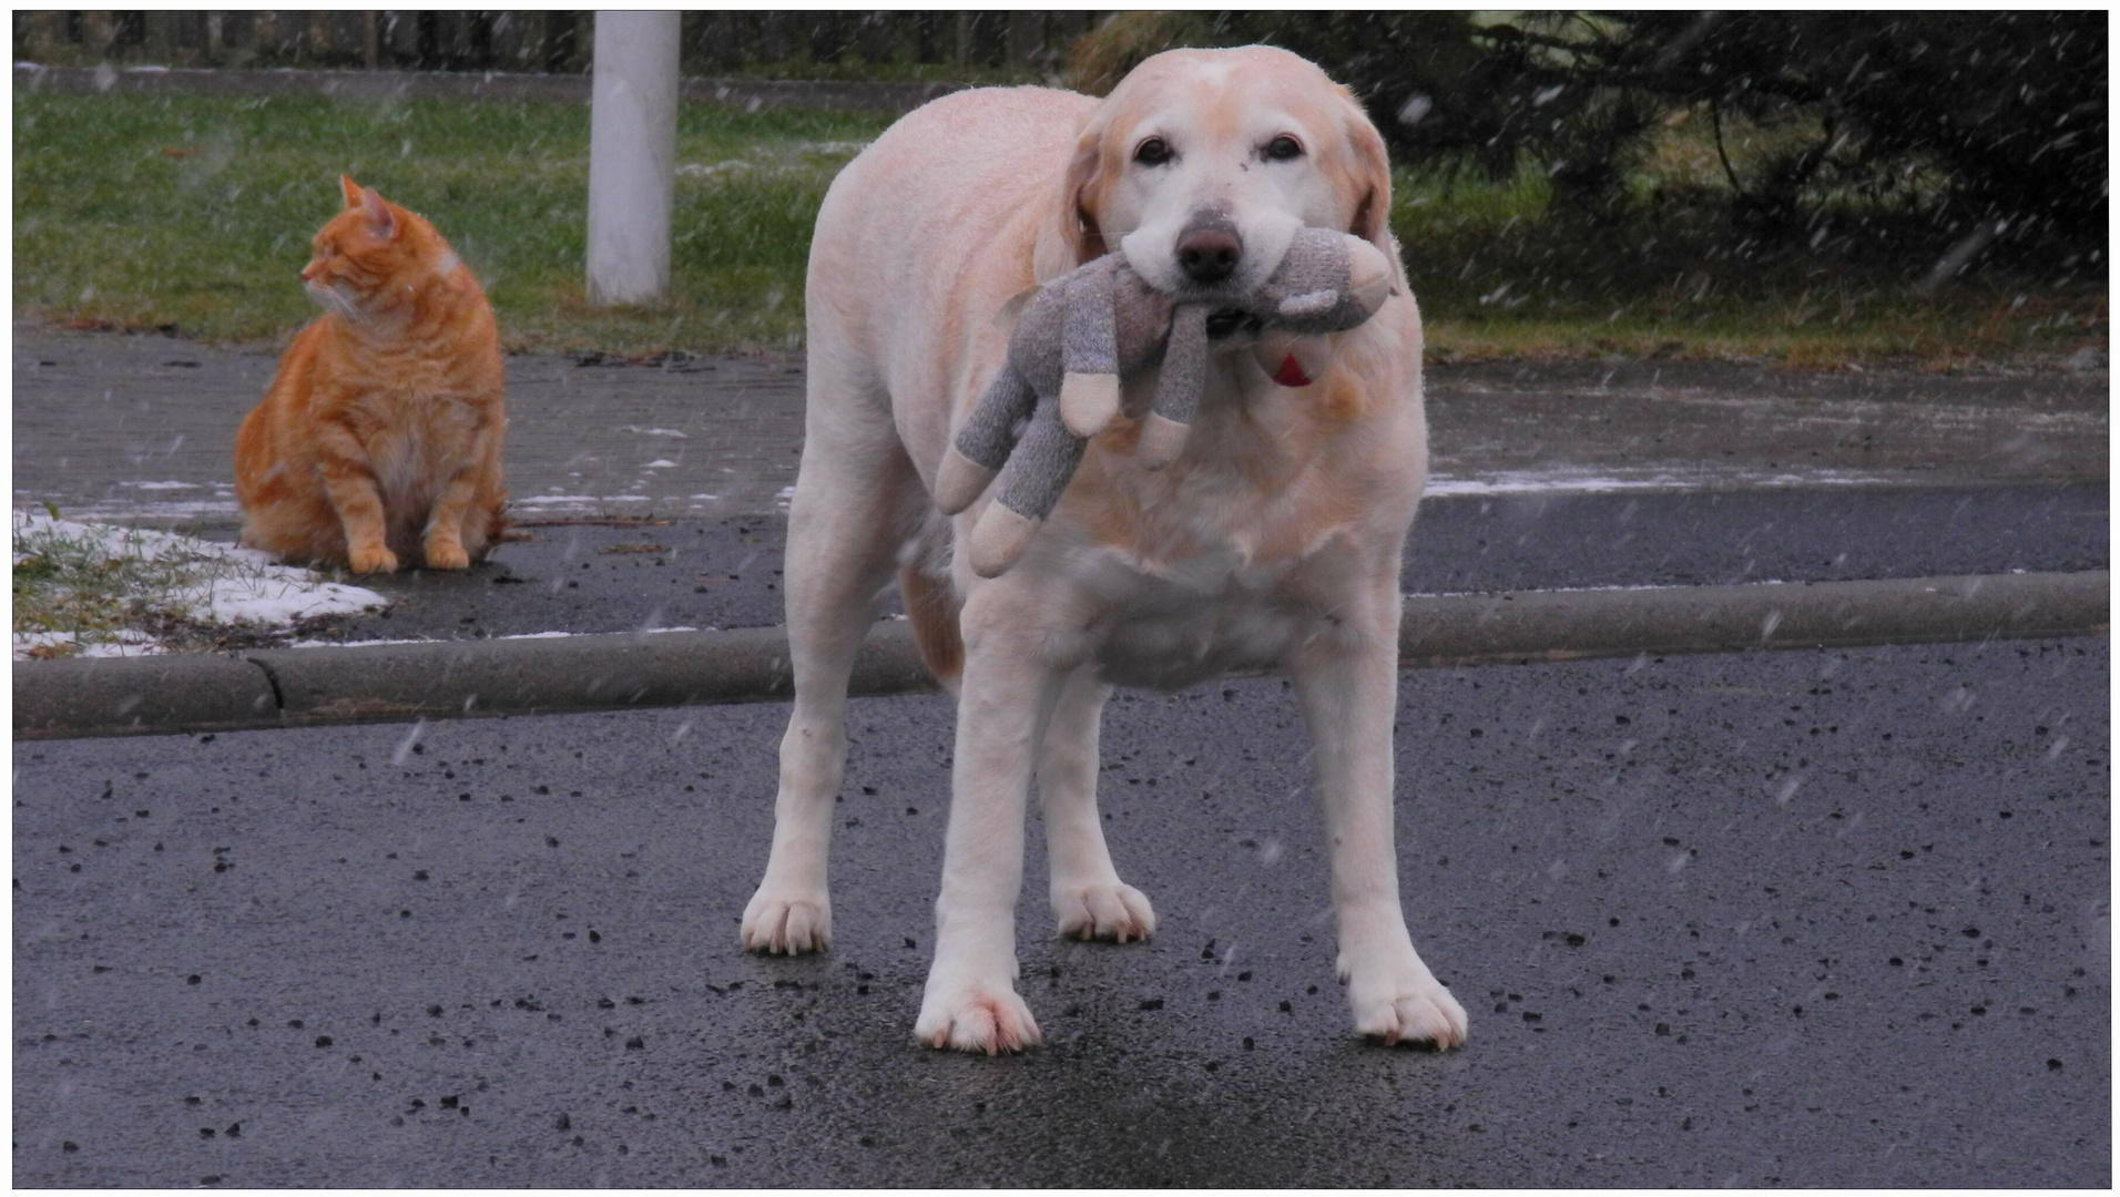
MULTIPOLYGON (((430 70, 191 70, 36 66, 15 68, 30 91, 131 91, 151 95, 335 95, 341 100, 568 100, 589 102, 587 74, 430 70)), ((912 112, 962 83, 859 83, 808 78, 683 78, 678 95, 736 108, 850 108, 912 112)))

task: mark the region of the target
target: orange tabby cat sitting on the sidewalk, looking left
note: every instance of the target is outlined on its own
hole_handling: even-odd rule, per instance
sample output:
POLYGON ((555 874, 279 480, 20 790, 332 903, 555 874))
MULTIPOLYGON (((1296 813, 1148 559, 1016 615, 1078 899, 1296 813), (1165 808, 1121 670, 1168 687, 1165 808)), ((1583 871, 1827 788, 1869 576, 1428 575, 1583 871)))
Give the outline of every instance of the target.
POLYGON ((507 525, 494 311, 420 214, 339 186, 301 271, 326 311, 235 434, 242 542, 356 574, 462 570, 507 525))

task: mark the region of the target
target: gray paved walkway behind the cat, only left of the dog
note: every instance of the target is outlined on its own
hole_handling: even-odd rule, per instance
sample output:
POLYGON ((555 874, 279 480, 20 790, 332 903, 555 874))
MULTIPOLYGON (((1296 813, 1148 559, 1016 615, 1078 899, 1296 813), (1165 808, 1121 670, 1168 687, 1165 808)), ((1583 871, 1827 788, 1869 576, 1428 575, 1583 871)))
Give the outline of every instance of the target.
MULTIPOLYGON (((757 515, 795 485, 799 360, 598 362, 507 360, 502 464, 519 519, 757 515)), ((237 528, 235 428, 276 364, 271 347, 51 333, 17 320, 15 502, 237 528)))

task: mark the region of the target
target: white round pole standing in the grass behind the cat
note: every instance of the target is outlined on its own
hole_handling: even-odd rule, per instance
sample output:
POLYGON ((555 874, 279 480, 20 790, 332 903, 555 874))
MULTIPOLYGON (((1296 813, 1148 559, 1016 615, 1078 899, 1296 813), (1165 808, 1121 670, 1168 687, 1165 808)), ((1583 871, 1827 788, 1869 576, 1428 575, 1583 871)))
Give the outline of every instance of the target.
POLYGON ((678 13, 598 13, 589 87, 589 305, 670 288, 678 13))

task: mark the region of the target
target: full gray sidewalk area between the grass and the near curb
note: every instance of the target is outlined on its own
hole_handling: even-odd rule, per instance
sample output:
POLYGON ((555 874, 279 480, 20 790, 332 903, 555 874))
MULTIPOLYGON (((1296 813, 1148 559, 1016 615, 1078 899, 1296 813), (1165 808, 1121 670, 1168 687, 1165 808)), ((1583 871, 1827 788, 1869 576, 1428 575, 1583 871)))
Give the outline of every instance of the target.
MULTIPOLYGON (((15 502, 233 538, 267 350, 15 324, 15 502)), ((793 358, 509 358, 524 540, 369 585, 307 640, 780 623, 793 358)), ((1408 593, 1859 580, 2107 564, 2103 375, 1446 367, 1408 593)))

